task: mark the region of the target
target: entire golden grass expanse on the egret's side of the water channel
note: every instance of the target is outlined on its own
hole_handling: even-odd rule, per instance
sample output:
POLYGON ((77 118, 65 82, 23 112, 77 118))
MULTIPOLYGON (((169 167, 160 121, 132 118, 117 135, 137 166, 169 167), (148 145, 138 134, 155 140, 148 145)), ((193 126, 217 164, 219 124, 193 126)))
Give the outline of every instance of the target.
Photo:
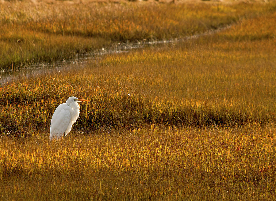
POLYGON ((273 9, 1 83, 0 199, 275 200, 273 9), (72 95, 92 101, 50 143, 53 111, 72 95))

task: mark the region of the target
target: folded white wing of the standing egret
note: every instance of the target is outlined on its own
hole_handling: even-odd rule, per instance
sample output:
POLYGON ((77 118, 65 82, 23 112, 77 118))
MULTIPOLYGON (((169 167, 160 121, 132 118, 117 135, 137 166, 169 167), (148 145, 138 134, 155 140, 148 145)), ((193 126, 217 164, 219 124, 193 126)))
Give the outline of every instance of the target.
POLYGON ((67 128, 68 126, 70 127, 71 113, 72 109, 67 104, 60 104, 56 108, 51 119, 49 140, 52 140, 53 138, 59 139, 70 132, 67 128))

